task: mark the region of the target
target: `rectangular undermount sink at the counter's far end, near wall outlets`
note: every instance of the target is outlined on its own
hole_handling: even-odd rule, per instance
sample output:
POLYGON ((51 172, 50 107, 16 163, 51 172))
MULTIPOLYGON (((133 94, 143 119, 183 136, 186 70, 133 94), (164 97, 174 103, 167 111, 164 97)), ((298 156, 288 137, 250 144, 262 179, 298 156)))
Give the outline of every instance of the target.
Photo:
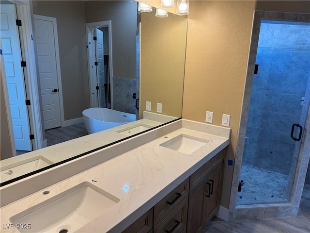
POLYGON ((160 144, 159 146, 176 150, 181 153, 191 154, 194 151, 202 148, 209 140, 204 140, 198 137, 193 137, 186 134, 180 134, 167 142, 160 144))

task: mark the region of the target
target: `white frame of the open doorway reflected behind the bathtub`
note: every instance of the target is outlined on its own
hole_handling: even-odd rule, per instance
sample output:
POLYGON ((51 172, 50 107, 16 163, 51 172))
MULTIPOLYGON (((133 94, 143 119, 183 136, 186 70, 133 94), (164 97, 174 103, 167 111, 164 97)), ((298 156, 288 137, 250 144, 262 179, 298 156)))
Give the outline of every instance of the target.
MULTIPOLYGON (((91 108, 97 106, 97 91, 96 86, 96 69, 94 67, 94 54, 95 47, 93 46, 93 29, 108 27, 109 30, 109 81, 110 81, 110 99, 111 99, 111 109, 113 109, 113 59, 112 59, 112 25, 111 20, 100 21, 93 23, 86 23, 86 35, 87 35, 87 62, 88 62, 88 80, 89 80, 89 91, 90 91, 90 106, 91 108), (95 93, 94 95, 92 93, 95 93)), ((108 95, 109 93, 107 93, 108 95)))

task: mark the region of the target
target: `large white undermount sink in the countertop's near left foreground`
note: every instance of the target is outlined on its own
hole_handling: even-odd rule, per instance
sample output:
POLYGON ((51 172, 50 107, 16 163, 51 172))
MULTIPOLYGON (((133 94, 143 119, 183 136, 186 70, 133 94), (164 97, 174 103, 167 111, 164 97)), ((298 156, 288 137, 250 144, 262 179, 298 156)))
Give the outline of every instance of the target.
MULTIPOLYGON (((48 195, 48 191, 43 194, 48 195)), ((120 199, 89 182, 80 183, 50 199, 10 217, 15 226, 29 224, 22 233, 70 233, 101 215, 120 199)))

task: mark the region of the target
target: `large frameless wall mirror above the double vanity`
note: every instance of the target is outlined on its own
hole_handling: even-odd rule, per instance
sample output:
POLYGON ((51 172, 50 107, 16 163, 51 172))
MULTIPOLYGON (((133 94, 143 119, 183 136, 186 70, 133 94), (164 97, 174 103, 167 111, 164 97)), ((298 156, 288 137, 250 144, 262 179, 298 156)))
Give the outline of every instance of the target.
MULTIPOLYGON (((10 24, 19 17, 19 1, 0 3, 1 65, 5 67, 1 92, 8 94, 14 128, 12 86, 27 83, 23 78, 31 77, 18 76, 10 67, 11 48, 23 51, 26 43, 14 41, 8 30, 14 28, 15 35, 22 33, 19 26, 10 24)), ((182 116, 187 18, 172 13, 155 17, 155 8, 140 13, 137 4, 127 0, 30 1, 42 118, 37 124, 42 126, 45 145, 39 150, 32 150, 35 147, 31 145, 30 150, 13 157, 7 157, 2 147, 1 185, 182 116), (147 102, 151 103, 150 109, 147 102), (116 120, 121 124, 101 116, 102 109, 114 110, 111 118, 123 117, 116 120), (98 121, 98 117, 99 121, 102 117, 101 123, 111 125, 100 128, 88 121, 98 121), (61 137, 71 140, 62 143, 58 140, 61 137)), ((2 119, 9 116, 2 106, 1 102, 1 131, 6 126, 2 119)), ((13 132, 16 134, 16 127, 13 132)), ((1 146, 10 140, 8 137, 1 132, 1 146)))

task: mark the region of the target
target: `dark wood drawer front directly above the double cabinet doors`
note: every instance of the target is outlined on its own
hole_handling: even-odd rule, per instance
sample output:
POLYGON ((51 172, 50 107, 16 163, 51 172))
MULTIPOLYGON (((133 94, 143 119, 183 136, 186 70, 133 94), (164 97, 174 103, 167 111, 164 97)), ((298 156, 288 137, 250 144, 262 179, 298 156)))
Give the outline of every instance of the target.
POLYGON ((217 155, 202 165, 201 168, 199 168, 190 176, 190 191, 193 190, 199 183, 201 183, 208 176, 208 174, 212 172, 212 170, 221 165, 221 163, 224 161, 225 152, 226 148, 218 152, 217 155))

